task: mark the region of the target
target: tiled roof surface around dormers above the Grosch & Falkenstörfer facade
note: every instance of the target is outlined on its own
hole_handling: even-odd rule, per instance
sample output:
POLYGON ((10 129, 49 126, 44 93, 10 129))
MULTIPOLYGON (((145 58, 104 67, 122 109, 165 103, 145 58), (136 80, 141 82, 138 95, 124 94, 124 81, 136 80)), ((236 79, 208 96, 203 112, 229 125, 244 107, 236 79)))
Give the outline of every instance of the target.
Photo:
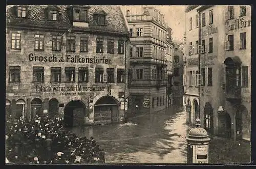
POLYGON ((6 10, 6 24, 7 29, 8 25, 16 26, 34 26, 44 29, 49 27, 51 29, 72 29, 72 30, 96 30, 96 31, 105 31, 105 32, 118 32, 128 34, 128 30, 125 26, 125 20, 122 16, 121 9, 118 6, 114 5, 90 5, 86 6, 88 8, 88 22, 89 27, 77 27, 73 26, 71 18, 69 16, 69 7, 67 5, 56 5, 59 8, 58 10, 58 19, 57 21, 50 21, 46 16, 46 8, 48 5, 28 5, 27 6, 27 18, 18 18, 15 15, 15 6, 7 6, 6 10), (98 25, 93 19, 93 14, 96 12, 106 13, 106 25, 98 25))

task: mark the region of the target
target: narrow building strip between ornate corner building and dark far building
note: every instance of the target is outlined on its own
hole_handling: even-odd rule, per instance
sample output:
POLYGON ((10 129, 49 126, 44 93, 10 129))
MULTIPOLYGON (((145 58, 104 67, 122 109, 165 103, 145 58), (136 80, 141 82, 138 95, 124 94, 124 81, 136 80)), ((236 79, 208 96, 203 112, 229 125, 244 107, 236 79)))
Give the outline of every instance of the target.
POLYGON ((172 29, 167 27, 166 32, 166 70, 167 70, 167 106, 173 104, 172 86, 173 86, 173 42, 172 42, 172 29))

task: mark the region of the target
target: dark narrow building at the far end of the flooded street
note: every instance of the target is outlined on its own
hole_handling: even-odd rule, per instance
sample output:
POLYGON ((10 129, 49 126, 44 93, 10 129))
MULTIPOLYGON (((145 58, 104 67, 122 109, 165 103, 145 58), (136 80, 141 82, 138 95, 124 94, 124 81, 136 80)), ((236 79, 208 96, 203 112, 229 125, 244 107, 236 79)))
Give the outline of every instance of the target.
POLYGON ((174 43, 174 57, 173 57, 173 104, 177 106, 183 105, 183 51, 179 44, 174 43))

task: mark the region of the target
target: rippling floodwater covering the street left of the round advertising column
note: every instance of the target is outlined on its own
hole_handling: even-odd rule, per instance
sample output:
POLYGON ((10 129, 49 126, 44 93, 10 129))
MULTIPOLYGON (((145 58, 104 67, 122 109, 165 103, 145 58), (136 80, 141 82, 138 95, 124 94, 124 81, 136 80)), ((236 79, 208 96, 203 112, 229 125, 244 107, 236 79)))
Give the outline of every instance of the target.
POLYGON ((78 136, 93 136, 106 163, 186 163, 186 112, 169 107, 128 123, 76 127, 78 136))

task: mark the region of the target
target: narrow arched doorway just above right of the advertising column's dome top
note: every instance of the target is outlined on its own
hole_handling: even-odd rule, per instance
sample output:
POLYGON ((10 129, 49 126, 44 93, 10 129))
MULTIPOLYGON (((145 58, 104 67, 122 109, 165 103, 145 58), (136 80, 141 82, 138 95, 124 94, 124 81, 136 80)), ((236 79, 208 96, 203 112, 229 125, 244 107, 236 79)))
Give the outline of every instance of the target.
POLYGON ((214 110, 209 102, 204 105, 204 128, 208 133, 214 133, 214 110))

